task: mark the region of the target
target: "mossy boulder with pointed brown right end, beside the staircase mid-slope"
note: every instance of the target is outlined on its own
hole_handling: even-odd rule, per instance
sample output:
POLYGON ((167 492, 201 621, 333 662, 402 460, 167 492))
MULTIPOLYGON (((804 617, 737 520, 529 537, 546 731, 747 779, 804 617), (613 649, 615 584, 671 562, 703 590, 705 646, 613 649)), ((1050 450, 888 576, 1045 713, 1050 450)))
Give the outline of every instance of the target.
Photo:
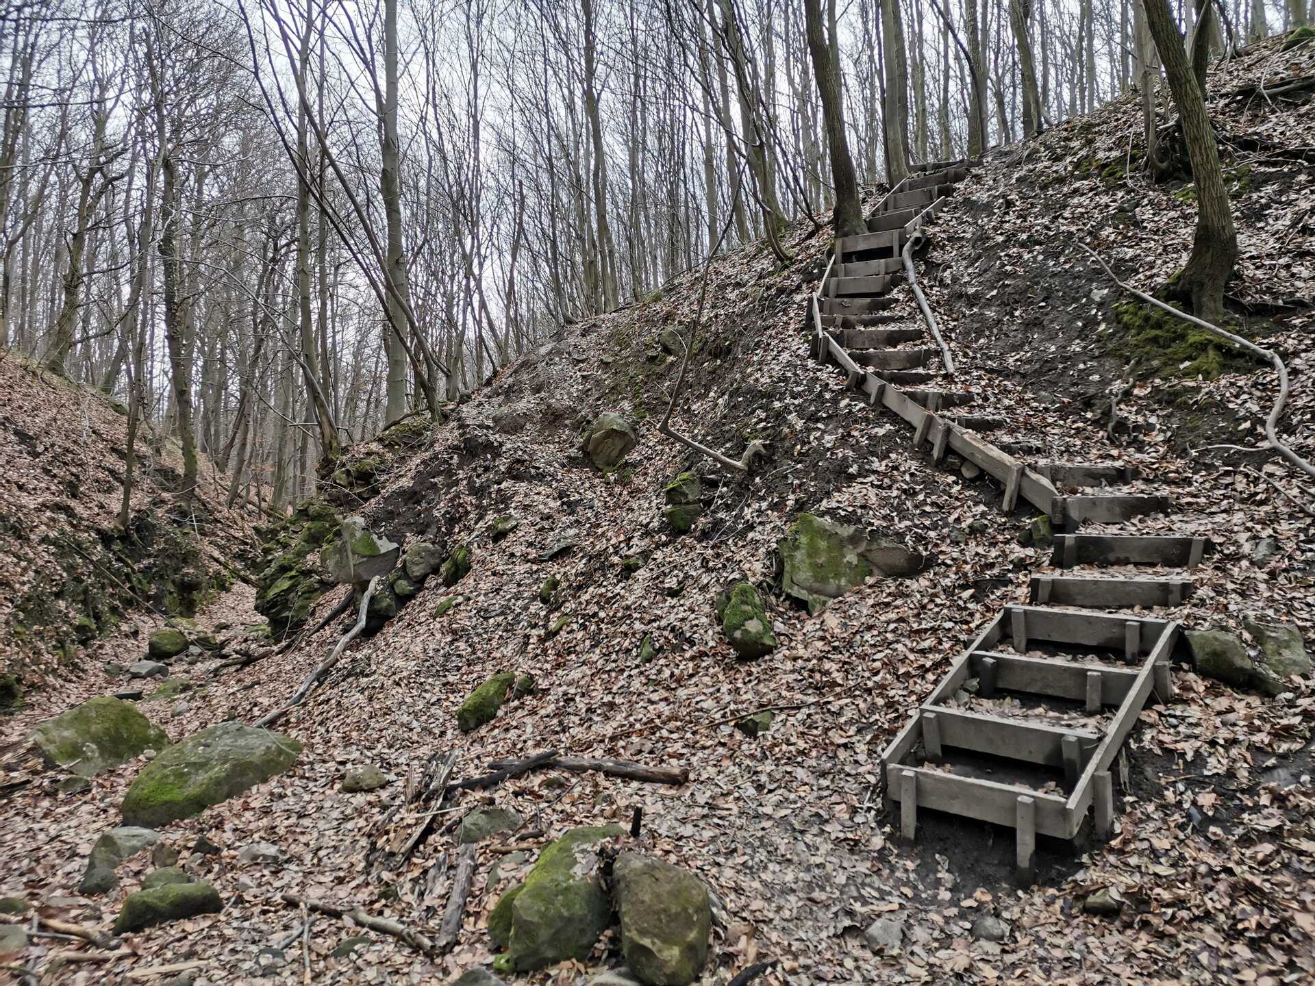
POLYGON ((809 607, 826 609, 873 575, 910 576, 930 564, 890 538, 868 538, 852 525, 800 514, 776 543, 781 556, 781 589, 809 607))

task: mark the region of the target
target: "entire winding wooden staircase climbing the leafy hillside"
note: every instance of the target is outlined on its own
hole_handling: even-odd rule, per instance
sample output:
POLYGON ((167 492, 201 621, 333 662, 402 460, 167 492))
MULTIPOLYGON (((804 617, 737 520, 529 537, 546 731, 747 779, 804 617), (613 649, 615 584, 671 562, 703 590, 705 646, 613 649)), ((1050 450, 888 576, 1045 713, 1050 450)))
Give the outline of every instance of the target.
POLYGON ((901 250, 969 167, 915 168, 877 205, 868 233, 836 239, 810 298, 810 346, 869 405, 902 418, 915 448, 936 461, 953 452, 973 463, 1002 486, 1006 513, 1026 501, 1063 531, 1052 557, 1063 573, 1031 576, 1031 605, 1007 606, 986 624, 881 757, 885 803, 898 807, 905 837, 917 836, 928 810, 1011 826, 1026 885, 1038 835, 1076 839, 1089 816, 1097 836, 1112 832, 1110 765, 1147 699, 1172 699, 1178 624, 1148 614, 1180 605, 1194 584, 1181 572, 1106 567, 1191 569, 1211 546, 1201 536, 1084 534, 1169 513, 1173 501, 1122 492, 1141 480, 1122 464, 1028 463, 992 444, 982 433, 1005 418, 953 411, 977 394, 942 372, 940 350, 922 329, 877 314, 898 304, 901 250))

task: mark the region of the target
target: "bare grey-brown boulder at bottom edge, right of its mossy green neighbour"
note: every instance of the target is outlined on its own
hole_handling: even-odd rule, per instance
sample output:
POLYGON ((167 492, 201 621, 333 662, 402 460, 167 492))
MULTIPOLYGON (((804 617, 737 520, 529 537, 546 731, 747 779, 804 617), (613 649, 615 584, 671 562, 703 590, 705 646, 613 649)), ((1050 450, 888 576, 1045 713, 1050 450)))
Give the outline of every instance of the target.
POLYGON ((611 869, 621 949, 640 982, 685 986, 707 961, 713 910, 707 887, 669 862, 623 852, 611 869))

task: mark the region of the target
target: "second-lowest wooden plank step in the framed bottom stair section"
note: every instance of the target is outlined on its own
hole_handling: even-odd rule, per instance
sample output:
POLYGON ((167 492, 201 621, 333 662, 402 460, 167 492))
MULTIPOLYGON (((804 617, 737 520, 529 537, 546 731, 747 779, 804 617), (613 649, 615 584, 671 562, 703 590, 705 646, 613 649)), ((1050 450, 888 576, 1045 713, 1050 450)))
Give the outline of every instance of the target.
POLYGON ((924 705, 920 715, 923 749, 932 761, 943 760, 943 749, 952 747, 1041 766, 1066 766, 1076 781, 1086 757, 1101 744, 1098 732, 967 713, 939 705, 924 705), (1066 751, 1074 751, 1078 759, 1074 760, 1073 753, 1066 751))

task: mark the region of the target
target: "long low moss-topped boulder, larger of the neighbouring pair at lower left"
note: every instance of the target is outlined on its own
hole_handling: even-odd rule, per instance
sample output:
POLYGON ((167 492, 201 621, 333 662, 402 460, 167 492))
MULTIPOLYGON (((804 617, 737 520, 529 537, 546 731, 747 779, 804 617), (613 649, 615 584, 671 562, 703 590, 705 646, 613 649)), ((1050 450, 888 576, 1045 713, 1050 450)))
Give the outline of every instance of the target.
POLYGON ((291 736, 239 722, 201 730, 142 768, 124 795, 124 823, 164 826, 199 815, 287 770, 300 752, 291 736))

